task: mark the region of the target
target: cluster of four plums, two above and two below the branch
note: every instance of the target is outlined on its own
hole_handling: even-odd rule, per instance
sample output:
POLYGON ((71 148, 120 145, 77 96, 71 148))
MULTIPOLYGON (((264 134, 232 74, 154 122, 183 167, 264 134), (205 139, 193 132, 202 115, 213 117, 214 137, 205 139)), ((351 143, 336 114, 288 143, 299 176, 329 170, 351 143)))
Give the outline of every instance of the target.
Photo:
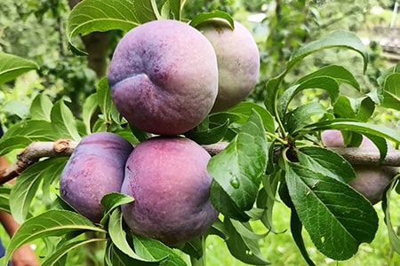
POLYGON ((250 32, 224 20, 198 27, 156 20, 134 27, 117 44, 108 84, 117 110, 154 134, 134 149, 114 133, 84 137, 60 176, 60 196, 94 223, 101 198, 122 192, 133 232, 178 245, 217 219, 210 201, 210 159, 183 133, 212 112, 235 106, 258 80, 260 54, 250 32))

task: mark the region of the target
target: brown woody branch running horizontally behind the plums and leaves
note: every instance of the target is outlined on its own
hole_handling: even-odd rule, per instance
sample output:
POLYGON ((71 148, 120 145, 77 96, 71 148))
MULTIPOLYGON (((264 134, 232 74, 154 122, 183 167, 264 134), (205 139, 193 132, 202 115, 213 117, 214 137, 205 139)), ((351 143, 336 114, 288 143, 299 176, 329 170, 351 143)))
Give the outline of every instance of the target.
MULTIPOLYGON (((61 138, 55 142, 33 142, 17 155, 17 160, 8 168, 0 170, 0 184, 20 176, 26 168, 38 160, 48 157, 70 156, 75 150, 77 142, 61 138)), ((212 156, 222 152, 228 143, 219 142, 212 145, 203 145, 204 149, 212 156)), ((374 150, 360 150, 358 148, 330 148, 333 152, 339 153, 352 165, 385 165, 400 167, 400 151, 389 150, 386 158, 380 163, 380 153, 374 150)), ((280 151, 274 154, 274 161, 280 151)))

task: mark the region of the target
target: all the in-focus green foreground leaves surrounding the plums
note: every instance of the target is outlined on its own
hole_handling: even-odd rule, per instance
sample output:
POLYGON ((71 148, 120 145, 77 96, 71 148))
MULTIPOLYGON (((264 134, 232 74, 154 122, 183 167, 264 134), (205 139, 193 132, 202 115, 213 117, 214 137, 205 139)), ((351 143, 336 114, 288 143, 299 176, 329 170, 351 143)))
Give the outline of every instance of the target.
MULTIPOLYGON (((76 52, 81 52, 76 45, 77 35, 111 29, 126 32, 148 20, 186 20, 182 12, 185 1, 163 3, 160 7, 156 1, 115 0, 111 8, 108 1, 84 0, 68 16, 69 44, 76 48, 76 52)), ((305 2, 300 1, 300 4, 305 2)), ((196 14, 196 20, 214 17, 230 18, 227 12, 196 14)), ((286 40, 285 36, 282 37, 286 40)), ((265 265, 268 259, 261 253, 259 242, 268 238, 269 231, 276 232, 273 221, 279 218, 273 215, 272 210, 277 198, 291 211, 292 239, 309 265, 314 262, 305 246, 303 229, 308 231, 314 246, 325 256, 338 261, 350 259, 362 243, 371 243, 375 238, 378 215, 372 204, 348 185, 355 176, 353 168, 338 153, 323 147, 320 132, 340 129, 347 133, 350 145, 356 145, 351 142, 352 136, 364 134, 372 139, 384 158, 387 153, 384 139, 400 144, 400 133, 367 121, 375 107, 398 110, 400 66, 390 67, 376 81, 377 90, 364 93, 360 98, 351 96, 352 90, 362 93, 358 79, 350 69, 337 63, 324 62, 325 67, 320 69, 304 69, 306 74, 292 80, 290 75, 302 66, 304 60, 329 50, 352 52, 361 59, 365 72, 369 63, 368 51, 359 37, 344 30, 326 33, 312 42, 301 43, 294 52, 285 51, 290 52, 290 56, 284 57, 279 72, 259 88, 265 95, 263 105, 244 102, 225 112, 212 113, 196 129, 188 132, 187 137, 205 144, 220 140, 229 142, 228 147, 215 155, 208 165, 213 177, 212 204, 220 211, 220 219, 201 238, 170 247, 155 239, 134 235, 127 230, 119 208, 133 199, 120 193, 103 198, 101 204, 105 211, 100 224, 76 214, 59 198, 44 213, 29 217, 36 193, 39 190, 50 193, 57 187, 60 169, 67 160, 51 158, 24 171, 9 192, 12 214, 23 223, 7 246, 1 265, 5 265, 18 246, 49 237, 58 239, 58 242, 55 250, 44 257, 44 265, 65 263, 71 250, 97 241, 106 243, 106 265, 186 265, 182 254, 187 254, 193 265, 202 265, 204 239, 211 235, 225 240, 229 252, 236 259, 265 265), (346 90, 342 88, 350 93, 343 93, 346 90), (296 99, 300 94, 314 89, 324 91, 328 98, 326 103, 314 101, 299 105, 296 99), (262 224, 267 233, 254 231, 253 223, 262 224), (97 232, 100 237, 82 239, 82 234, 87 231, 97 232)), ((4 73, 27 67, 25 59, 7 57, 12 59, 1 66, 4 73)), ((264 68, 261 72, 270 74, 264 68)), ((12 78, 16 74, 20 72, 12 78)), ((2 78, 9 79, 7 74, 0 74, 0 80, 2 78)), ((45 95, 36 96, 29 114, 28 120, 21 121, 5 133, 0 140, 0 154, 24 148, 33 141, 55 141, 61 137, 78 141, 96 131, 116 132, 132 143, 148 137, 147 132, 129 127, 116 112, 105 79, 100 80, 97 91, 85 98, 79 115, 72 112, 63 99, 53 103, 45 95), (98 109, 100 114, 96 113, 98 109)), ((394 179, 388 188, 388 196, 395 192, 396 184, 397 179, 394 179)), ((388 198, 383 200, 384 212, 390 242, 397 251, 400 240, 388 223, 388 198)))

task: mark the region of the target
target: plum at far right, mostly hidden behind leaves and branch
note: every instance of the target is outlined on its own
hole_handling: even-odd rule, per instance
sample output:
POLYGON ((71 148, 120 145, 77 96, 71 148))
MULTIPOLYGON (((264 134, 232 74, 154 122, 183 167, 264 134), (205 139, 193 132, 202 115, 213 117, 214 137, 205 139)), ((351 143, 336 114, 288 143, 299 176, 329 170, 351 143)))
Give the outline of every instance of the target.
MULTIPOLYGON (((343 147, 344 141, 339 130, 325 130, 321 134, 324 145, 327 147, 343 147)), ((363 136, 363 141, 358 147, 361 151, 378 152, 378 148, 368 138, 363 136)), ((388 149, 393 147, 388 143, 388 149)), ((349 184, 362 193, 372 204, 378 203, 382 199, 382 192, 390 184, 390 181, 398 173, 398 168, 388 166, 364 166, 353 165, 356 172, 356 179, 349 184)))

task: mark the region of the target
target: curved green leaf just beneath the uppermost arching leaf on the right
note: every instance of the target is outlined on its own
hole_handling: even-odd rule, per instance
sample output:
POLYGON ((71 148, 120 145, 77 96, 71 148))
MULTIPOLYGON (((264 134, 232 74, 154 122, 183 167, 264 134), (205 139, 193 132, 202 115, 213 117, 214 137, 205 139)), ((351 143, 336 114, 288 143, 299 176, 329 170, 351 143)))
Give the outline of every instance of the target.
POLYGON ((346 67, 338 65, 323 66, 322 68, 319 68, 315 72, 301 77, 299 81, 297 81, 296 83, 300 84, 309 79, 321 76, 330 77, 338 83, 347 83, 352 87, 354 87, 356 90, 360 90, 360 84, 357 82, 354 75, 351 74, 351 72, 348 71, 346 67))

